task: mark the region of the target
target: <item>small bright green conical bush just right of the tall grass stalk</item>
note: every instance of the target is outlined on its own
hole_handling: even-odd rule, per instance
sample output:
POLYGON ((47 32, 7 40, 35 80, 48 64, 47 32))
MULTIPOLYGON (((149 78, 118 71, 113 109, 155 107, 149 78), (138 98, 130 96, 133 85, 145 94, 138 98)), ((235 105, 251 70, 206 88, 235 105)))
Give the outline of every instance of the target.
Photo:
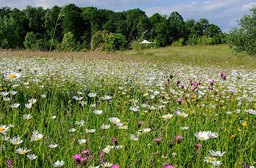
POLYGON ((75 40, 72 32, 67 32, 64 34, 64 37, 61 43, 59 43, 59 45, 56 46, 56 50, 66 51, 66 52, 75 50, 76 43, 77 41, 75 40))

